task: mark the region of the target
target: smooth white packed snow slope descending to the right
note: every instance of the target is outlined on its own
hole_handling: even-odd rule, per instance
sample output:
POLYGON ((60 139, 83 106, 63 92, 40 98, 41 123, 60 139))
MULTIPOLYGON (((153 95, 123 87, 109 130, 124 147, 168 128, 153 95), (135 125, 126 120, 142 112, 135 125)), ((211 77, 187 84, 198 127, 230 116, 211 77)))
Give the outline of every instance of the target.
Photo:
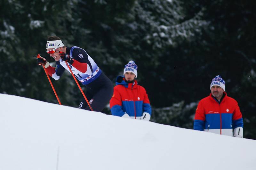
POLYGON ((255 170, 256 141, 0 94, 1 170, 255 170))

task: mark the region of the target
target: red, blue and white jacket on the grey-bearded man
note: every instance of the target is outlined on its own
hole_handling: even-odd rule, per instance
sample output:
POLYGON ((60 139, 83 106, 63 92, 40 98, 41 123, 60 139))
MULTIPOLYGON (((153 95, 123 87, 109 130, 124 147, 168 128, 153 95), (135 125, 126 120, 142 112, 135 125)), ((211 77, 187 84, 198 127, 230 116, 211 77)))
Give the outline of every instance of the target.
POLYGON ((199 101, 196 108, 194 129, 233 136, 233 129, 244 126, 242 114, 235 99, 223 92, 223 99, 210 94, 199 101))

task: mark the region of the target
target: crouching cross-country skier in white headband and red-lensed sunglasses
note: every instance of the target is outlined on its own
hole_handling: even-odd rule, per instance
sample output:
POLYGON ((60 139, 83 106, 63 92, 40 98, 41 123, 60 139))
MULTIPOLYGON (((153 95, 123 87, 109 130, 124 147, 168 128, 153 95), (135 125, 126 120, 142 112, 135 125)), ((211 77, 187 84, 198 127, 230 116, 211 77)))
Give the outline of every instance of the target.
MULTIPOLYGON (((70 72, 66 62, 75 77, 86 86, 85 96, 93 111, 102 111, 113 94, 113 84, 100 70, 93 59, 80 47, 66 47, 57 36, 49 36, 46 43, 46 52, 56 61, 55 68, 50 66, 44 57, 38 58, 38 64, 44 64, 46 72, 55 80, 60 79, 65 70, 70 72)), ((90 110, 85 99, 79 108, 90 110)))

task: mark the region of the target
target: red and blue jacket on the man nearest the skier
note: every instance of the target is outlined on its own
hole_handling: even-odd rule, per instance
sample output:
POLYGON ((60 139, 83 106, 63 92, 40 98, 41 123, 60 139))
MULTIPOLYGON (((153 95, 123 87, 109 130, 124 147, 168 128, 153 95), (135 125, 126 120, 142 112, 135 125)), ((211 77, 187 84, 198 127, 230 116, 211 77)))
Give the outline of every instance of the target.
POLYGON ((116 78, 113 96, 109 102, 112 115, 123 116, 127 113, 131 118, 140 119, 143 112, 151 115, 148 94, 144 87, 134 83, 126 83, 124 77, 116 78))

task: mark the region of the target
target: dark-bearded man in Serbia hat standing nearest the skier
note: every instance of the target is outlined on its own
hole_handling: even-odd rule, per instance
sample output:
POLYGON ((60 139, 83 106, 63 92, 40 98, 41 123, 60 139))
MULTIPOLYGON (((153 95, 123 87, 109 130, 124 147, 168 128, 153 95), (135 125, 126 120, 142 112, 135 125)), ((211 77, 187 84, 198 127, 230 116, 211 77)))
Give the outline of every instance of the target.
POLYGON ((124 67, 124 77, 116 78, 110 109, 115 116, 149 121, 151 106, 145 88, 135 80, 137 68, 134 61, 129 61, 124 67))

